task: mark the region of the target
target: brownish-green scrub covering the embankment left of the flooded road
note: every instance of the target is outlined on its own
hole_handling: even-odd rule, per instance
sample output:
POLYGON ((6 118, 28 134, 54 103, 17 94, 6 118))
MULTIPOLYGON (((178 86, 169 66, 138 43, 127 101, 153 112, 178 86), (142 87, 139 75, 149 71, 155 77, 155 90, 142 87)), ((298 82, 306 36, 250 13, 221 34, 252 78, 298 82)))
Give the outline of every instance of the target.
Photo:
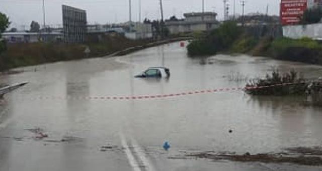
POLYGON ((129 47, 144 45, 151 40, 128 40, 122 36, 102 36, 100 40, 91 39, 84 44, 63 43, 20 43, 8 44, 7 50, 0 54, 0 71, 11 68, 44 63, 69 61, 86 58, 86 47, 91 50, 89 57, 101 57, 129 47))

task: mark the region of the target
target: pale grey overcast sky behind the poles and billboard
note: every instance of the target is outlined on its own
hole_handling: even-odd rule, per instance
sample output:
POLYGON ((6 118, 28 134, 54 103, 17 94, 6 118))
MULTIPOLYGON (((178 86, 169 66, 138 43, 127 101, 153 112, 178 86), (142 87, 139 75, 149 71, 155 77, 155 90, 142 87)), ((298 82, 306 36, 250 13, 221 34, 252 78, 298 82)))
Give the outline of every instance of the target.
MULTIPOLYGON (((139 1, 132 1, 132 20, 138 21, 139 1)), ((230 14, 233 13, 233 1, 230 0, 230 14)), ((241 13, 240 0, 236 1, 236 13, 241 13)), ((46 23, 54 25, 62 23, 61 5, 81 8, 88 13, 90 24, 120 23, 129 20, 129 0, 45 0, 46 23)), ((279 14, 280 0, 247 0, 245 13, 266 13, 269 5, 269 14, 279 14)), ((141 18, 159 19, 159 1, 141 0, 141 18)), ((223 18, 222 0, 205 0, 205 10, 218 13, 218 19, 223 18)), ((202 0, 164 0, 165 18, 176 15, 182 18, 183 13, 201 12, 202 0)), ((42 23, 42 0, 0 0, 0 12, 9 16, 11 27, 30 25, 31 21, 42 23)))

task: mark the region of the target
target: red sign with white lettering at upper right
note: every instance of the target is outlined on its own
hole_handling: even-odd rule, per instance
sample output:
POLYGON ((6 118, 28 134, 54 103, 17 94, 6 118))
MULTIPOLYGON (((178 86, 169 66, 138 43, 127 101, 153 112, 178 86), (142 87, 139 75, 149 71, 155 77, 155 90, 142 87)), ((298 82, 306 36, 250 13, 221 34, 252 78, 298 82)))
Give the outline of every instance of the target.
POLYGON ((282 25, 299 24, 306 9, 307 0, 281 0, 280 18, 282 25))

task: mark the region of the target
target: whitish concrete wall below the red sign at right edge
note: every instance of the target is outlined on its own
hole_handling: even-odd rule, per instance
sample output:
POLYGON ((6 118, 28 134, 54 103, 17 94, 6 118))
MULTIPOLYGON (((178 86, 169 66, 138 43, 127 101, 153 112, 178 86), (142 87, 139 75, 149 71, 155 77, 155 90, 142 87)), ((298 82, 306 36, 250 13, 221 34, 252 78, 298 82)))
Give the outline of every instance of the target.
POLYGON ((322 23, 311 25, 284 26, 283 36, 292 39, 308 37, 314 40, 322 40, 322 23))

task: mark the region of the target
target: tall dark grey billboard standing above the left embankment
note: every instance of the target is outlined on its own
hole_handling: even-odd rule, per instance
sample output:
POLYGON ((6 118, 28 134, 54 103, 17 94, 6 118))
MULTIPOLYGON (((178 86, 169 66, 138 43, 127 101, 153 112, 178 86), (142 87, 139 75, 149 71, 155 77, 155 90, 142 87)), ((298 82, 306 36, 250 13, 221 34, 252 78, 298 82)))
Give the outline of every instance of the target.
POLYGON ((87 32, 86 11, 69 6, 62 6, 62 21, 65 43, 78 43, 85 41, 87 32))

